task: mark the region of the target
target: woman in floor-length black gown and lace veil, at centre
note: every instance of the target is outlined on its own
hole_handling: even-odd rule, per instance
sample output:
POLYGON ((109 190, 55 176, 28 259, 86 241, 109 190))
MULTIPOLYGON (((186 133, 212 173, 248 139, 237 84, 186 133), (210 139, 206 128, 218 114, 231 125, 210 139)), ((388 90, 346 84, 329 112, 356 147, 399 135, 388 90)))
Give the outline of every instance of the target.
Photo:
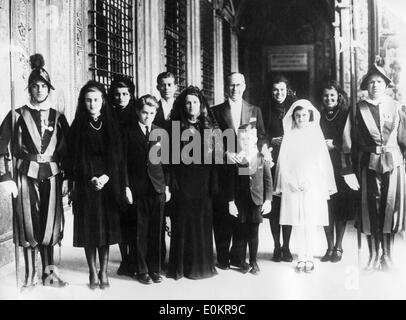
MULTIPOLYGON (((204 130, 212 133, 214 118, 206 99, 197 87, 189 87, 176 99, 171 119, 180 123, 181 135, 188 131, 190 139, 202 137, 204 130)), ((172 137, 172 143, 175 138, 172 137)), ((205 143, 211 144, 211 137, 205 143)), ((181 142, 180 150, 189 142, 181 142)), ((213 254, 212 195, 217 189, 215 166, 204 164, 205 149, 193 150, 196 161, 172 166, 172 194, 176 210, 171 215, 171 245, 168 277, 203 279, 217 272, 213 254)), ((180 153, 181 154, 181 153, 180 153)), ((206 155, 207 157, 207 155, 206 155)))

